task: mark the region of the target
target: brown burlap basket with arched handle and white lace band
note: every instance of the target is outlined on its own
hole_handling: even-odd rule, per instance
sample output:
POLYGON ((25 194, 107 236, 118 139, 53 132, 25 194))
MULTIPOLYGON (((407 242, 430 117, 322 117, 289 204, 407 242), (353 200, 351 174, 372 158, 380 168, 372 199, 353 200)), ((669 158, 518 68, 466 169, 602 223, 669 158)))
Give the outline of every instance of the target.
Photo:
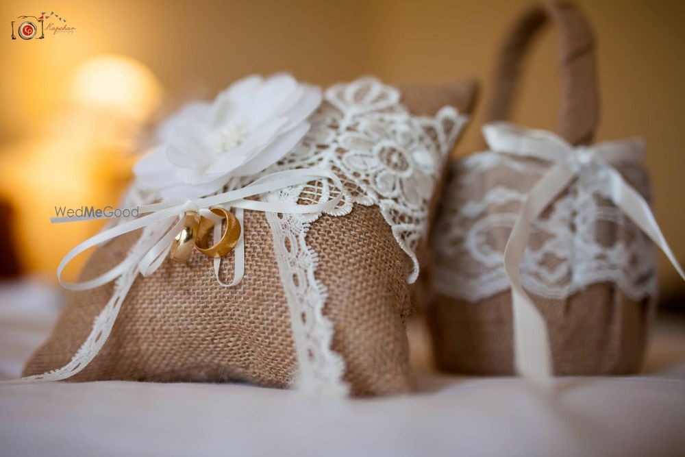
MULTIPOLYGON (((599 101, 595 42, 580 11, 568 4, 536 6, 516 22, 499 57, 487 118, 507 119, 523 55, 547 22, 560 34, 558 135, 567 143, 551 133, 493 123, 484 129, 486 138, 510 136, 513 149, 496 153, 488 140, 490 151, 451 166, 434 230, 428 310, 436 362, 445 371, 514 373, 512 292, 503 253, 523 202, 551 169, 534 148, 527 157, 512 153, 524 143, 547 142, 543 152, 564 149, 562 161, 577 155, 573 166, 580 170, 532 223, 520 264, 521 284, 547 324, 553 372, 632 373, 643 360, 656 293, 655 257, 649 238, 607 198, 610 190, 600 174, 605 169, 590 155, 596 151, 583 162, 580 146, 589 147, 593 139, 599 101)), ((639 143, 627 149, 634 145, 639 149, 639 143)), ((649 199, 642 164, 617 160, 612 166, 649 199)))

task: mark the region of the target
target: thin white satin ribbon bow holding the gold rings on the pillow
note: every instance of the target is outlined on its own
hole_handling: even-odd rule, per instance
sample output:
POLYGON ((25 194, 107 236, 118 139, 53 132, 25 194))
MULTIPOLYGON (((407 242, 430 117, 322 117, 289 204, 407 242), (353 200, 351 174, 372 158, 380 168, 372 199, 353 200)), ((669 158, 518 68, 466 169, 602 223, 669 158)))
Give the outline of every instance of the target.
MULTIPOLYGON (((208 217, 217 221, 218 217, 210 211, 214 206, 222 206, 223 208, 236 208, 236 219, 240 222, 240 239, 235 249, 235 269, 233 281, 225 284, 219 278, 219 268, 221 267, 221 258, 214 259, 214 274, 216 280, 225 287, 236 286, 242 280, 242 275, 245 272, 245 220, 243 217, 244 210, 262 211, 262 212, 278 212, 287 214, 308 214, 323 212, 335 208, 340 199, 343 198, 343 182, 332 171, 319 169, 297 169, 280 171, 261 177, 259 180, 237 190, 230 190, 229 192, 210 195, 209 197, 202 197, 198 199, 190 199, 186 201, 173 201, 153 203, 150 205, 140 206, 138 208, 140 214, 145 214, 138 219, 126 221, 114 227, 108 228, 99 234, 88 238, 83 243, 80 243, 75 248, 71 249, 69 253, 62 258, 62 262, 57 269, 57 277, 64 288, 71 291, 86 291, 88 289, 96 288, 107 284, 116 278, 120 277, 131 269, 136 267, 136 270, 143 276, 149 276, 160 267, 164 259, 169 254, 173 238, 182 229, 184 215, 186 211, 193 210, 199 212, 202 216, 208 217), (331 199, 322 201, 320 203, 312 203, 302 205, 299 203, 285 203, 285 202, 269 202, 247 199, 260 195, 262 193, 269 193, 275 190, 288 188, 291 186, 298 186, 308 182, 317 180, 331 180, 338 188, 340 193, 331 199), (93 278, 92 280, 84 282, 65 282, 62 280, 62 272, 73 258, 82 254, 91 247, 107 243, 108 241, 117 238, 123 234, 133 232, 142 227, 151 227, 153 229, 153 236, 150 237, 147 243, 141 245, 138 249, 130 252, 129 255, 112 269, 106 271, 102 275, 93 278)), ((103 217, 101 219, 107 219, 103 217)), ((69 222, 69 219, 60 219, 58 222, 69 222)), ((221 238, 221 223, 214 224, 214 239, 221 238)))

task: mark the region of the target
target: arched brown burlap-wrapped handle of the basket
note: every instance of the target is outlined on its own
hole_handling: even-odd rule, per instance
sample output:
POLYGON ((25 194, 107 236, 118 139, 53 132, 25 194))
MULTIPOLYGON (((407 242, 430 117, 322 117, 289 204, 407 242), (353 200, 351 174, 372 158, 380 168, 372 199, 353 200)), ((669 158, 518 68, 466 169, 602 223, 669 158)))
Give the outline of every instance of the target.
POLYGON ((599 119, 595 37, 586 16, 571 3, 534 5, 514 23, 499 53, 486 121, 508 119, 525 52, 548 21, 560 32, 562 106, 558 133, 573 145, 590 143, 599 119))

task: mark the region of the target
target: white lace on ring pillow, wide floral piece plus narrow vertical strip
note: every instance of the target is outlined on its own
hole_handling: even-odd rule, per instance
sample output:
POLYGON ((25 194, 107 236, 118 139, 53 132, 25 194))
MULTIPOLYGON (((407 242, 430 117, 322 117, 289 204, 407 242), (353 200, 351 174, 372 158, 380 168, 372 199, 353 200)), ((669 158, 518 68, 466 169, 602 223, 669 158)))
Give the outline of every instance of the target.
MULTIPOLYGON (((412 116, 399 92, 376 79, 333 86, 311 117, 312 128, 286 159, 264 171, 331 169, 343 180, 343 202, 328 214, 342 216, 354 203, 376 205, 397 243, 419 273, 416 247, 427 232, 427 208, 445 160, 466 116, 443 108, 434 118, 412 116)), ((329 183, 267 195, 266 199, 316 203, 338 190, 329 183)), ((336 395, 349 390, 342 381, 343 358, 331 349, 334 327, 323 309, 324 284, 316 279, 317 256, 307 245, 310 223, 321 214, 267 214, 297 347, 297 383, 307 391, 336 395), (296 279, 295 279, 296 278, 296 279)))

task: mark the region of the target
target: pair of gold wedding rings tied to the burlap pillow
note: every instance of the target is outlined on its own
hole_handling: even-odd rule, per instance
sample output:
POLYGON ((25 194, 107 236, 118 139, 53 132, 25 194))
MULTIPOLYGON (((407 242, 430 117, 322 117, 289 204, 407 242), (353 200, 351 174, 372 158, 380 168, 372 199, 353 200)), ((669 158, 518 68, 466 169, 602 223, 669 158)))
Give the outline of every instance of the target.
POLYGON ((226 221, 226 230, 221 235, 221 239, 214 240, 214 245, 207 246, 207 238, 210 230, 214 227, 214 223, 222 223, 223 221, 214 222, 206 217, 201 217, 195 211, 188 211, 184 217, 183 228, 171 244, 171 251, 169 252, 171 260, 179 263, 188 262, 193 248, 208 257, 216 258, 225 256, 236 247, 240 239, 240 222, 238 219, 232 212, 223 208, 212 208, 211 211, 226 221))

